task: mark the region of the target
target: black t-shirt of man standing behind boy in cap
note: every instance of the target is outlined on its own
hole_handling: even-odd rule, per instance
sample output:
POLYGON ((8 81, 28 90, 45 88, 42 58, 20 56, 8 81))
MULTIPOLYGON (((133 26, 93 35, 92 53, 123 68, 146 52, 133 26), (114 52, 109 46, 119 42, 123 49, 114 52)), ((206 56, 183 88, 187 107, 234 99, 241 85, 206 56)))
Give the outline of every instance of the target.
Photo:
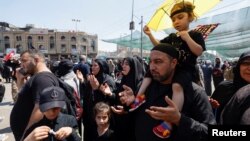
POLYGON ((35 103, 39 102, 39 92, 49 86, 58 85, 56 77, 45 75, 50 72, 41 72, 32 76, 18 94, 18 100, 10 114, 10 126, 19 141, 29 122, 35 103))

